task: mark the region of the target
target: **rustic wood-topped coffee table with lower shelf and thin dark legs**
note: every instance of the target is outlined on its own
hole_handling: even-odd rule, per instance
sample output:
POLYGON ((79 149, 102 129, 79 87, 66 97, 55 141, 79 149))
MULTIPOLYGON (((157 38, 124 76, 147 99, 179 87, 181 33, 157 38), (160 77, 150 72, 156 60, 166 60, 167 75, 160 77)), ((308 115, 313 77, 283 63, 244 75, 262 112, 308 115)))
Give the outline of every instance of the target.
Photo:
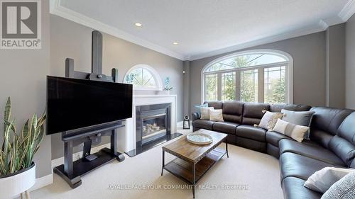
POLYGON ((196 183, 207 173, 209 169, 221 159, 224 154, 228 155, 228 143, 226 134, 211 130, 198 130, 210 135, 213 139, 211 144, 198 145, 187 141, 183 135, 180 139, 165 145, 163 148, 163 158, 161 176, 163 170, 169 171, 174 176, 192 185, 192 195, 195 198, 196 183), (226 149, 217 148, 222 142, 226 142, 226 149), (173 154, 176 159, 165 164, 165 152, 173 154))

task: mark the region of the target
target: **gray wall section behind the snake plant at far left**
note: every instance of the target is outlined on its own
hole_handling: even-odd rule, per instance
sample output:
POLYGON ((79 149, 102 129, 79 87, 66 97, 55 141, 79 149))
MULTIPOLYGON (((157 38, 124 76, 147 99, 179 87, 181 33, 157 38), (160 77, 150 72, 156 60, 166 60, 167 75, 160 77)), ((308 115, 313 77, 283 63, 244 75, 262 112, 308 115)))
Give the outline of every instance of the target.
MULTIPOLYGON (((45 76, 50 68, 50 18, 48 1, 42 1, 42 49, 0 50, 0 118, 3 118, 6 98, 11 96, 12 118, 16 118, 18 133, 33 113, 45 110, 45 76)), ((3 125, 0 125, 2 140, 3 125)), ((35 154, 36 176, 51 174, 50 136, 45 136, 35 154)))

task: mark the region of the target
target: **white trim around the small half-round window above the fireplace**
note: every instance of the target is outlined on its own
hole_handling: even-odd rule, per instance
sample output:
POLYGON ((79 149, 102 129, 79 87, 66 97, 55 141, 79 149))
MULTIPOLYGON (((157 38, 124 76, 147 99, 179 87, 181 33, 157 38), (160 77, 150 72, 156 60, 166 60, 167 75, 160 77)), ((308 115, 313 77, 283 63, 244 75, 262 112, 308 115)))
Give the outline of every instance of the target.
POLYGON ((146 86, 134 86, 133 85, 133 90, 140 90, 140 91, 163 91, 163 81, 160 77, 160 75, 158 74, 158 72, 151 66, 147 65, 147 64, 137 64, 133 67, 131 67, 131 69, 129 69, 128 72, 126 72, 126 74, 124 75, 124 82, 126 82, 126 77, 127 75, 129 75, 134 69, 138 69, 138 68, 143 68, 148 70, 148 72, 150 72, 154 78, 155 87, 146 87, 146 86))

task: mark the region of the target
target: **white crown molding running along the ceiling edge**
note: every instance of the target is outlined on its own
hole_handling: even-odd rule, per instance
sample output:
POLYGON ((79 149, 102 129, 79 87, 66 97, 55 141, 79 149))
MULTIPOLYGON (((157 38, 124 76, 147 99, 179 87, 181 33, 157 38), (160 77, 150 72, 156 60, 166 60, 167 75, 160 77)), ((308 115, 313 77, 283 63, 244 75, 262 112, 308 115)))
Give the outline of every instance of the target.
POLYGON ((132 42, 136 45, 141 45, 148 49, 154 50, 156 52, 160 52, 164 55, 168 55, 170 57, 174 57, 180 60, 196 60, 202 59, 205 57, 211 57, 214 55, 224 54, 226 52, 233 52, 236 50, 242 50, 248 47, 254 47, 257 45, 264 45, 270 42, 277 42, 280 40, 286 40, 290 38, 296 38, 302 35, 308 35, 312 33, 321 32, 327 30, 327 28, 331 25, 336 25, 339 23, 344 23, 348 21, 348 19, 354 15, 355 13, 355 0, 349 0, 346 5, 342 8, 342 10, 332 18, 322 19, 318 23, 313 25, 308 25, 304 28, 298 28, 295 30, 291 30, 285 33, 275 34, 264 38, 255 38, 249 42, 244 42, 238 45, 234 45, 231 47, 225 47, 219 50, 213 50, 206 53, 201 53, 198 55, 182 55, 177 52, 173 52, 172 50, 168 50, 165 47, 161 47, 160 45, 155 45, 152 42, 148 42, 148 40, 143 40, 134 35, 126 33, 118 28, 114 28, 111 25, 107 25, 100 21, 94 20, 93 18, 89 18, 88 16, 84 16, 81 13, 77 13, 68 8, 60 6, 60 0, 50 0, 50 13, 56 16, 60 16, 62 18, 66 18, 70 21, 74 21, 75 23, 80 23, 89 28, 93 28, 95 30, 102 31, 109 35, 114 35, 117 38, 121 38, 123 40, 132 42))

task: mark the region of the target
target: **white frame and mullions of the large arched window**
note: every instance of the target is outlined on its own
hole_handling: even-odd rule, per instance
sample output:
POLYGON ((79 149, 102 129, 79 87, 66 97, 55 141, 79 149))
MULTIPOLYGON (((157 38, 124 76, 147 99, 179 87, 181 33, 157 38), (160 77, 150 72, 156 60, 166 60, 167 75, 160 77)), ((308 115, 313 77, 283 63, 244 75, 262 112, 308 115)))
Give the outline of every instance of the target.
MULTIPOLYGON (((212 60, 212 62, 209 62, 206 64, 201 71, 201 103, 204 103, 205 99, 205 89, 206 85, 204 84, 204 79, 207 74, 217 74, 217 100, 221 101, 222 98, 222 74, 228 73, 228 72, 236 72, 236 101, 240 101, 240 82, 241 82, 241 72, 242 71, 248 71, 251 69, 258 69, 258 78, 263 78, 264 77, 264 69, 265 68, 270 68, 270 67, 282 67, 285 66, 285 78, 286 78, 286 101, 285 103, 293 103, 293 57, 288 54, 287 52, 283 52, 280 50, 269 50, 269 49, 258 49, 258 50, 246 50, 242 52, 235 52, 223 57, 219 57, 217 59, 212 60), (267 55, 276 55, 279 57, 283 57, 287 61, 285 62, 275 62, 271 64, 259 64, 259 65, 254 65, 251 67, 241 67, 241 68, 234 68, 234 69, 224 69, 224 70, 219 70, 219 71, 214 71, 214 72, 206 72, 209 67, 211 67, 213 64, 216 64, 217 62, 221 62, 225 59, 229 59, 232 57, 238 57, 238 56, 243 56, 243 55, 253 55, 253 54, 267 54, 267 55)), ((261 91, 261 89, 264 89, 263 86, 260 86, 258 88, 258 91, 261 91)), ((264 95, 258 95, 258 102, 263 101, 264 95)))

